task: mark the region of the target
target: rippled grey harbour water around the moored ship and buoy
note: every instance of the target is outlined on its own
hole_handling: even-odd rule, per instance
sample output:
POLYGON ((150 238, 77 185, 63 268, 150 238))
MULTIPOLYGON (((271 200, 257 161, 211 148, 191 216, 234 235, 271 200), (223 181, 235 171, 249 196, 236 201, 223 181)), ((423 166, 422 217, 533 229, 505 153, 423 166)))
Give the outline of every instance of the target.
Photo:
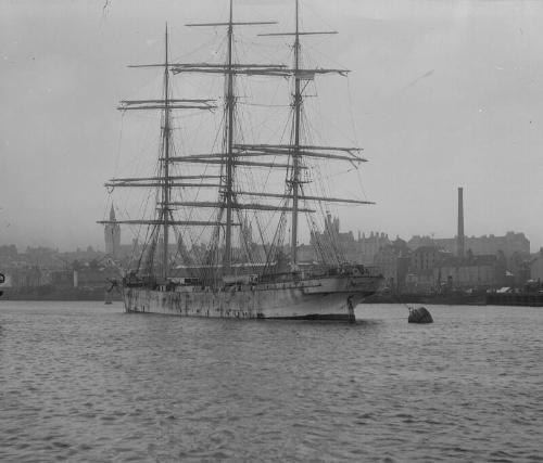
POLYGON ((543 461, 543 309, 345 323, 0 301, 0 461, 543 461))

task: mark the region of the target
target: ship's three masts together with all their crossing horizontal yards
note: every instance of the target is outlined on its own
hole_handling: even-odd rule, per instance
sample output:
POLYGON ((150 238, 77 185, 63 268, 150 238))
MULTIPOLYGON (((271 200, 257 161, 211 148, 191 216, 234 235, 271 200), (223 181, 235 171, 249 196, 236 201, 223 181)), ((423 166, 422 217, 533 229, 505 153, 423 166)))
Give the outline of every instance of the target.
MULTIPOLYGON (((304 156, 314 158, 326 158, 334 160, 350 162, 353 166, 364 163, 366 159, 359 157, 355 152, 359 149, 356 147, 338 147, 338 146, 319 146, 319 145, 305 145, 303 144, 302 131, 302 111, 303 111, 303 93, 306 81, 313 80, 316 75, 324 74, 339 74, 345 75, 349 70, 338 69, 338 68, 304 68, 301 60, 301 36, 311 35, 321 35, 321 34, 337 34, 336 31, 305 31, 300 30, 299 21, 299 0, 295 0, 295 31, 293 33, 272 33, 272 34, 258 34, 258 36, 294 36, 293 43, 293 63, 291 67, 285 65, 275 64, 241 64, 237 63, 235 59, 235 43, 233 43, 233 29, 236 26, 245 25, 265 25, 275 24, 275 22, 235 22, 233 21, 233 1, 229 0, 229 17, 228 22, 219 23, 202 23, 202 24, 188 24, 187 26, 226 26, 227 28, 227 55, 226 60, 220 64, 214 63, 169 63, 168 56, 168 31, 166 24, 165 31, 165 63, 164 64, 142 64, 135 65, 130 67, 164 67, 164 92, 161 100, 126 100, 122 101, 122 105, 118 107, 122 111, 140 111, 140 110, 162 110, 164 111, 163 116, 163 131, 162 131, 162 156, 159 159, 161 163, 161 172, 157 177, 147 177, 147 178, 125 178, 125 179, 112 179, 106 185, 109 188, 115 187, 131 187, 131 188, 148 188, 148 187, 159 187, 161 189, 161 204, 159 205, 159 217, 155 221, 153 220, 139 220, 130 221, 131 223, 148 223, 157 224, 159 231, 163 229, 163 272, 164 279, 168 274, 168 230, 173 226, 192 226, 200 227, 207 224, 214 224, 217 227, 216 232, 225 233, 225 248, 222 253, 223 256, 218 257, 223 263, 223 272, 229 273, 232 266, 232 227, 239 227, 240 223, 235 223, 232 216, 236 215, 235 211, 242 209, 250 210, 279 210, 283 213, 292 214, 292 229, 291 229, 291 263, 293 267, 298 263, 298 222, 299 215, 303 213, 312 214, 315 210, 307 209, 300 206, 300 201, 332 201, 339 203, 351 203, 351 204, 368 204, 368 202, 361 201, 350 201, 342 198, 327 198, 317 196, 306 196, 304 195, 304 190, 301 184, 305 182, 305 178, 301 179, 301 173, 306 171, 307 167, 303 163, 304 156), (224 133, 223 133, 223 153, 214 154, 190 154, 185 156, 176 156, 172 153, 172 120, 171 112, 173 110, 181 108, 194 108, 194 110, 212 110, 212 100, 179 100, 171 98, 169 89, 169 74, 179 73, 210 73, 210 74, 223 74, 225 76, 224 81, 224 133), (292 128, 291 137, 288 144, 252 144, 243 145, 237 144, 236 138, 236 107, 237 107, 237 97, 236 97, 236 76, 277 76, 277 77, 293 77, 294 80, 292 88, 292 102, 291 107, 293 111, 292 117, 292 128), (265 159, 258 159, 258 157, 265 157, 265 159), (288 163, 281 164, 275 159, 276 156, 291 156, 292 159, 288 163), (252 160, 252 157, 257 159, 252 160), (273 157, 273 158, 270 158, 273 157), (247 160, 247 159, 251 160, 247 160), (171 163, 193 163, 193 164, 206 164, 210 166, 216 166, 220 168, 217 175, 212 176, 171 176, 169 164, 171 163), (280 206, 273 206, 266 204, 239 204, 238 195, 244 194, 245 192, 238 192, 238 187, 236 184, 236 171, 238 169, 245 168, 286 168, 287 169, 287 188, 283 191, 282 196, 272 193, 262 194, 263 197, 278 197, 278 198, 291 198, 291 207, 287 207, 288 204, 280 206), (220 179, 217 183, 201 183, 201 182, 186 182, 186 180, 205 178, 220 179), (172 191, 174 188, 219 188, 219 200, 218 203, 211 202, 173 202, 172 191), (216 207, 220 210, 220 214, 215 222, 212 221, 176 221, 172 215, 172 211, 176 207, 216 207), (226 209, 226 210, 225 210, 226 209), (226 213, 224 216, 223 214, 226 213), (224 218, 224 219, 223 219, 224 218)), ((356 166, 355 166, 356 167, 356 166)), ((205 172, 204 172, 205 173, 205 172)), ((212 172, 215 173, 215 172, 212 172)), ((239 221, 239 220, 238 220, 239 221)))

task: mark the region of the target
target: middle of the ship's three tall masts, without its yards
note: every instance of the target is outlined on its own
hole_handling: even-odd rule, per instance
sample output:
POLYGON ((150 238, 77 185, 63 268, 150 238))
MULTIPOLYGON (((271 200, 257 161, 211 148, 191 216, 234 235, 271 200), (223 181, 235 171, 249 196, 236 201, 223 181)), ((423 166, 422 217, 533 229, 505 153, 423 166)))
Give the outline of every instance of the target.
POLYGON ((233 108, 236 99, 233 94, 233 73, 232 73, 232 42, 233 42, 233 24, 232 24, 232 0, 230 0, 230 16, 228 21, 228 63, 226 74, 226 120, 225 120, 225 137, 226 137, 226 232, 225 232, 225 256, 224 270, 227 273, 231 267, 232 256, 232 195, 233 195, 233 108))

